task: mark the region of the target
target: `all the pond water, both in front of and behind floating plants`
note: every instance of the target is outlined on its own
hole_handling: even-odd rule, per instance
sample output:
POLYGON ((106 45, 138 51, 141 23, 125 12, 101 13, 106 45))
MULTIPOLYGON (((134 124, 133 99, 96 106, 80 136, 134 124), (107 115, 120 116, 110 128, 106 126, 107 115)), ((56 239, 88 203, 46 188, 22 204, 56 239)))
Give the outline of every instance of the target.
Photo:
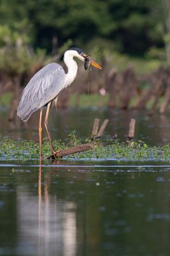
MULTIPOLYGON (((24 126, 9 125, 4 113, 1 136, 37 140, 38 115, 24 126)), ((106 133, 123 140, 132 117, 137 138, 155 145, 170 136, 168 116, 87 109, 54 116, 52 136, 62 140, 71 129, 89 136, 95 117, 110 118, 106 133)), ((0 161, 0 255, 166 256, 169 202, 169 163, 0 161)))

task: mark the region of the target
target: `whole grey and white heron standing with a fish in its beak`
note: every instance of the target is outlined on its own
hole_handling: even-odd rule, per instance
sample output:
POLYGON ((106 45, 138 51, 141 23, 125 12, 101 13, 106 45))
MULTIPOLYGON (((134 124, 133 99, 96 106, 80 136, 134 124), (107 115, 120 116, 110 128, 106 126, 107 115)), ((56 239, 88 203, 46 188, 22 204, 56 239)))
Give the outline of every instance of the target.
POLYGON ((43 158, 41 145, 42 145, 42 115, 43 107, 46 106, 45 115, 45 128, 50 141, 50 147, 52 148, 52 154, 56 158, 57 152, 53 147, 52 138, 48 131, 48 115, 52 101, 55 100, 55 106, 57 106, 57 99, 59 93, 73 83, 76 78, 78 65, 74 60, 74 57, 84 61, 85 69, 92 65, 96 68, 102 69, 101 65, 93 61, 84 51, 77 47, 71 47, 64 53, 64 63, 67 66, 67 73, 58 63, 49 63, 45 67, 41 68, 31 78, 29 83, 25 86, 24 91, 20 97, 20 102, 17 109, 17 115, 24 122, 27 122, 29 117, 35 111, 39 113, 39 157, 43 158))

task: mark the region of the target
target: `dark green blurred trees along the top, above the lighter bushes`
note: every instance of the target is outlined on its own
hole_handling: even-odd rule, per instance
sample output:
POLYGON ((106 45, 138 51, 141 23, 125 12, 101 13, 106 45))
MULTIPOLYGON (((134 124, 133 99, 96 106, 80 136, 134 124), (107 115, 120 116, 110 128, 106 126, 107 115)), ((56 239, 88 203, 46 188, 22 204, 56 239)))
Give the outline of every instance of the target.
POLYGON ((25 33, 34 48, 47 52, 56 36, 59 47, 72 40, 86 51, 96 42, 103 49, 114 46, 143 56, 153 45, 164 47, 163 8, 160 0, 1 0, 0 25, 25 33))

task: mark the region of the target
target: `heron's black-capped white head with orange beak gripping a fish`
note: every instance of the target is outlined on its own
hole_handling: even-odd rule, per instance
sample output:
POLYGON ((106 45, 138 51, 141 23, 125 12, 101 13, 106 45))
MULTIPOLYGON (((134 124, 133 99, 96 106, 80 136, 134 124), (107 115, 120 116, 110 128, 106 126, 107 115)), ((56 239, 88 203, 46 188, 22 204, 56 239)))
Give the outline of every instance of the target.
POLYGON ((90 64, 96 68, 102 69, 101 65, 93 61, 85 52, 83 52, 78 47, 71 47, 69 50, 65 52, 64 57, 67 54, 69 54, 69 56, 71 56, 72 58, 76 57, 81 61, 85 61, 85 69, 87 69, 90 64))

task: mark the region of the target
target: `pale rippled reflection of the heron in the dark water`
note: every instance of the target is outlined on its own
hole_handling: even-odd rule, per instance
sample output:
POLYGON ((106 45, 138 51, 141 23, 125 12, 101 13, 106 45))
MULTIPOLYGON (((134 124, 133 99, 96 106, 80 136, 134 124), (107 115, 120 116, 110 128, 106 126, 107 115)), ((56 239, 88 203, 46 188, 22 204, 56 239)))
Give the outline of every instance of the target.
POLYGON ((20 253, 32 248, 37 255, 76 255, 76 204, 50 193, 52 173, 41 168, 40 161, 38 195, 30 188, 17 195, 20 253))

